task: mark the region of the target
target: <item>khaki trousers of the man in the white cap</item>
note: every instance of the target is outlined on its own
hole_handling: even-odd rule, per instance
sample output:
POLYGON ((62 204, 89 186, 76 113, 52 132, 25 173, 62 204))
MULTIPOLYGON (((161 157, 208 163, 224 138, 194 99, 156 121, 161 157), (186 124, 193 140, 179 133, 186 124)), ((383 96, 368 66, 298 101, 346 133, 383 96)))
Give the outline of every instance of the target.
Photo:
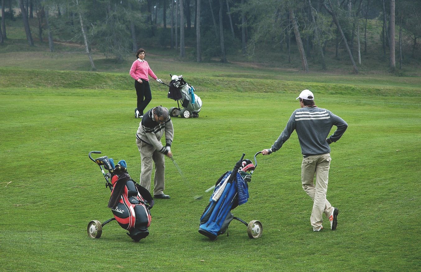
POLYGON ((326 199, 330 160, 330 154, 314 155, 303 158, 301 164, 301 183, 303 189, 313 199, 313 210, 310 217, 313 230, 320 229, 322 226, 323 213, 329 218, 333 210, 332 205, 326 199), (314 175, 316 176, 315 185, 314 175))

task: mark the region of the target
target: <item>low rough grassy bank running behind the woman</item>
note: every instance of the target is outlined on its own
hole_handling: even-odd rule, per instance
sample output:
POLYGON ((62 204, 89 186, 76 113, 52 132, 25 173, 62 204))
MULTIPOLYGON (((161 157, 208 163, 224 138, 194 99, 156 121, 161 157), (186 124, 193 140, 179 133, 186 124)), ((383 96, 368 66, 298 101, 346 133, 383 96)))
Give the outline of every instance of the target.
MULTIPOLYGON (((133 79, 128 74, 123 73, 99 73, 99 72, 77 72, 77 71, 57 71, 57 70, 20 70, 16 68, 0 68, 0 87, 3 88, 29 88, 34 89, 36 93, 42 93, 43 89, 112 89, 112 90, 132 90, 133 79), (35 91, 37 90, 37 91, 35 91)), ((159 75, 159 74, 158 74, 159 75)), ((384 83, 380 79, 372 83, 366 80, 360 80, 359 83, 331 83, 329 82, 310 82, 299 81, 303 78, 294 78, 294 80, 276 80, 249 78, 247 74, 235 75, 184 75, 186 80, 195 86, 197 92, 253 92, 253 93, 296 93, 298 90, 310 89, 317 94, 344 94, 355 96, 421 96, 419 88, 419 78, 412 78, 405 84, 399 81, 390 81, 384 83), (247 77, 247 78, 246 78, 247 77)), ((170 79, 162 77, 164 82, 169 83, 170 79)), ((287 79, 287 76, 284 76, 287 79)), ((399 78, 398 78, 399 79, 399 78)), ((308 78, 307 78, 308 80, 308 78)), ((342 77, 343 81, 346 81, 342 77)), ((356 80, 356 79, 353 79, 356 80)), ((323 81, 319 78, 318 81, 323 81)), ((155 81, 151 83, 152 89, 166 91, 168 87, 158 84, 155 81)), ((13 91, 9 91, 13 92, 13 91)))

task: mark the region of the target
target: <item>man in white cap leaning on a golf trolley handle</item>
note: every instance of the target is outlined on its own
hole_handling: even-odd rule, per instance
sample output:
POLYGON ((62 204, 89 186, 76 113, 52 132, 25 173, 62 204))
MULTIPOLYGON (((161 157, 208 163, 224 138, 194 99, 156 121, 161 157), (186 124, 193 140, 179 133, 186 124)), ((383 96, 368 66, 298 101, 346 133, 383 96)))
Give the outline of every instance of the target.
POLYGON ((294 110, 281 135, 271 148, 262 150, 262 154, 269 155, 279 150, 294 129, 296 130, 303 154, 301 183, 304 191, 313 199, 310 223, 315 232, 322 230, 322 215, 325 213, 330 221, 330 229, 335 230, 339 210, 326 199, 331 160, 330 144, 341 138, 348 124, 329 110, 314 105, 314 95, 309 90, 302 91, 296 99, 299 99, 301 108, 294 110), (333 126, 337 129, 328 137, 333 126))

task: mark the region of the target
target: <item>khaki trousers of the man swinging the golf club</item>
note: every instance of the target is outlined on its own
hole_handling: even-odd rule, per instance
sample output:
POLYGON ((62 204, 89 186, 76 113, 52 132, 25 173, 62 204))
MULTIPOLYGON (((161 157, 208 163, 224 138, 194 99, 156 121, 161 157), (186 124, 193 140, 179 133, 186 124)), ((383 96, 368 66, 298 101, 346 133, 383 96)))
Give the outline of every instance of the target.
POLYGON ((165 160, 164 154, 158 152, 153 145, 136 139, 141 156, 140 185, 151 190, 152 161, 155 162, 154 195, 163 194, 165 185, 165 160))

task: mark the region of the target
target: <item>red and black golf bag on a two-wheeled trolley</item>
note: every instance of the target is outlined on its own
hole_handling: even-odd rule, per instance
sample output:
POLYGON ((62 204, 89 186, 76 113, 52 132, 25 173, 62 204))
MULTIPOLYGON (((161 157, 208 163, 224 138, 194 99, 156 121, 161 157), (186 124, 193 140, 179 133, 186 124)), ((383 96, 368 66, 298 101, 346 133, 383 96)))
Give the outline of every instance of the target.
POLYGON ((102 228, 109 222, 116 220, 117 223, 128 232, 128 236, 135 242, 148 236, 148 227, 151 224, 149 212, 154 205, 154 200, 147 189, 137 184, 130 178, 127 172, 127 164, 121 160, 116 165, 113 159, 102 156, 93 159, 91 154, 101 154, 101 151, 89 152, 89 158, 99 165, 105 178, 105 187, 111 191, 108 207, 114 218, 101 224, 93 220, 88 224, 88 236, 99 238, 102 228), (105 172, 107 170, 108 172, 105 172))

